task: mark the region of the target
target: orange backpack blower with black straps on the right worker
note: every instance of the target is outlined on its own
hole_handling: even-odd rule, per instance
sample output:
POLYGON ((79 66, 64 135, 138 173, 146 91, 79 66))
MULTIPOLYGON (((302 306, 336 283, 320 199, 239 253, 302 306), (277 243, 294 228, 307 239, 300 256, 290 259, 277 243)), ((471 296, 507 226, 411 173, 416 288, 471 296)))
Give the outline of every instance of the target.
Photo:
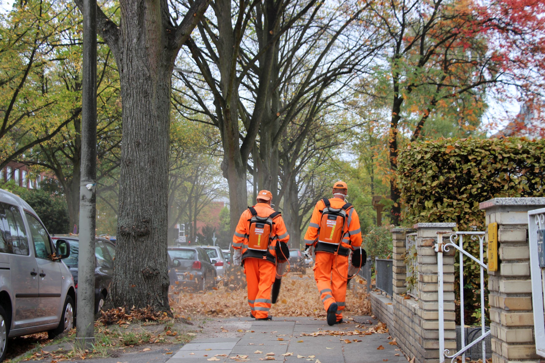
POLYGON ((328 253, 338 253, 341 256, 348 256, 349 248, 342 247, 341 239, 349 234, 347 225, 347 214, 352 204, 346 203, 341 208, 331 208, 331 204, 327 198, 322 199, 324 209, 320 211, 322 218, 318 227, 318 242, 315 252, 323 251, 328 253), (346 231, 344 226, 346 226, 346 231))

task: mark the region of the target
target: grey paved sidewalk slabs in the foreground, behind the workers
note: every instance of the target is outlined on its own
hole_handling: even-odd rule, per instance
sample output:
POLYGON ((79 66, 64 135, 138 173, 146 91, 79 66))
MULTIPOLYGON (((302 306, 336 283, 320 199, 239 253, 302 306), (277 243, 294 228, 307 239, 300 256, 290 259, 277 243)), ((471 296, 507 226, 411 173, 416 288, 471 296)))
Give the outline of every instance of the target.
POLYGON ((181 347, 168 360, 168 363, 261 362, 272 360, 271 358, 286 363, 383 363, 385 361, 403 363, 407 361, 401 350, 396 350, 399 349, 397 345, 389 344, 391 340, 387 339, 388 333, 301 336, 301 333, 311 334, 324 330, 365 331, 377 324, 377 321, 369 316, 354 317, 354 321, 333 327, 329 327, 325 319, 307 317, 275 318, 273 321, 255 321, 250 318, 226 320, 251 321, 251 328, 243 337, 193 340, 181 347), (363 326, 356 328, 356 325, 361 323, 364 323, 363 326), (344 340, 349 340, 350 343, 344 340), (384 349, 378 349, 379 346, 384 349), (274 355, 266 355, 267 353, 274 353, 274 355), (286 353, 293 353, 293 355, 282 355, 286 353), (234 359, 233 357, 237 355, 239 358, 234 359))

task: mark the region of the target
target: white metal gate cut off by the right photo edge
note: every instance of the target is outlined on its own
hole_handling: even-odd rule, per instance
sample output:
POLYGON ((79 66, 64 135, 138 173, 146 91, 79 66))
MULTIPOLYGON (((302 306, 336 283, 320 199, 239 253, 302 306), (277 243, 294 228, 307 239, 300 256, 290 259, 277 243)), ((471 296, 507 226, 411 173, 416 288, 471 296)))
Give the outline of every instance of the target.
POLYGON ((530 275, 532 278, 532 307, 536 353, 545 357, 545 208, 528 212, 528 242, 530 244, 530 275))

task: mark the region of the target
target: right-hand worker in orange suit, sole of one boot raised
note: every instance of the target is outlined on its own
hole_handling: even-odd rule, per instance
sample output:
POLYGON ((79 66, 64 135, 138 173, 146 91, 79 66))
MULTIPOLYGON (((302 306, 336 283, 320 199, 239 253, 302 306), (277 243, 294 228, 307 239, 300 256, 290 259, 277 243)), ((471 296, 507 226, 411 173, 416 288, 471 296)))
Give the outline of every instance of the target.
MULTIPOLYGON (((360 219, 347 202, 348 187, 343 181, 333 185, 331 199, 318 201, 305 234, 305 250, 316 253, 314 279, 324 303, 329 325, 342 322, 349 276, 348 256, 361 253, 360 219)), ((355 272, 350 268, 350 275, 355 272)))

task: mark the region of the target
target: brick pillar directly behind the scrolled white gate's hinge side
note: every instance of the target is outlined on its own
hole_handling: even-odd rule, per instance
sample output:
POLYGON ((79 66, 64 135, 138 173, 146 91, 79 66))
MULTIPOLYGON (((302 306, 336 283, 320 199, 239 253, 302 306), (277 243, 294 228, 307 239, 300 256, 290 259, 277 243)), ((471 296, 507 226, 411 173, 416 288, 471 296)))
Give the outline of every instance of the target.
MULTIPOLYGON (((422 363, 437 362, 439 358, 439 293, 437 285, 437 232, 451 232, 456 223, 418 223, 416 229, 418 306, 420 339, 423 348, 422 363)), ((445 239, 449 235, 444 235, 445 239)), ((454 249, 443 254, 443 300, 445 349, 456 351, 456 324, 454 304, 454 249)))

